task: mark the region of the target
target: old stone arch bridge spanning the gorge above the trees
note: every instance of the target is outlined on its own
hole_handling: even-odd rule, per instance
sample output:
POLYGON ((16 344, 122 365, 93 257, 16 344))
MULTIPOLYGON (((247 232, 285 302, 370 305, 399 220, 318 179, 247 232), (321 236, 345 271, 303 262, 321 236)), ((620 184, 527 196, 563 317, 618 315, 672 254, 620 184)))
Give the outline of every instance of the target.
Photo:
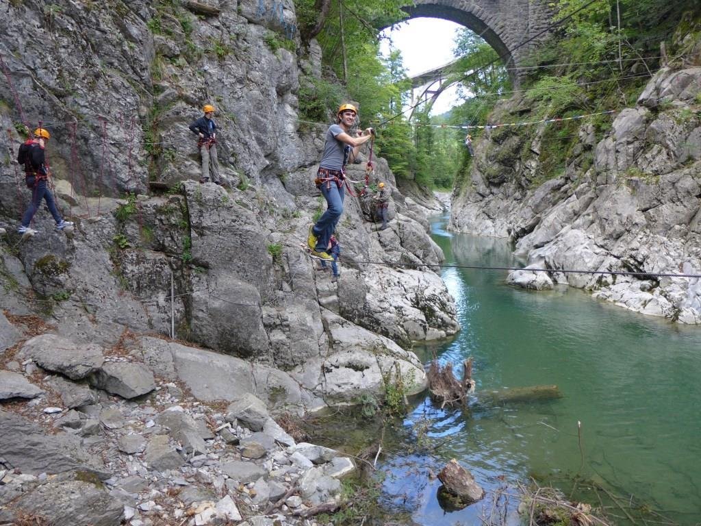
MULTIPOLYGON (((547 37, 552 24, 548 0, 414 0, 402 8, 409 18, 442 18, 471 29, 504 58, 518 84, 518 67, 529 50, 547 37), (533 41, 529 41, 535 37, 533 41), (529 41, 528 43, 525 43, 529 41)), ((431 45, 426 35, 426 46, 431 45)))

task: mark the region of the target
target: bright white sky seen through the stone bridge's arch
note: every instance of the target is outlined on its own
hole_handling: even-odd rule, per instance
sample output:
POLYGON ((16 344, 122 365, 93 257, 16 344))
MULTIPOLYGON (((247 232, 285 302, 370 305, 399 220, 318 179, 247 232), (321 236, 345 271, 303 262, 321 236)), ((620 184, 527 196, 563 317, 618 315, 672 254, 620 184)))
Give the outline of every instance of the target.
MULTIPOLYGON (((394 48, 402 52, 404 67, 411 76, 453 60, 455 32, 460 27, 454 22, 439 18, 414 18, 402 22, 394 31, 386 29, 383 34, 390 36, 394 48)), ((388 40, 382 41, 381 50, 383 55, 389 54, 388 40)), ((431 114, 440 115, 447 112, 454 104, 455 91, 454 88, 450 88, 438 97, 431 114)))

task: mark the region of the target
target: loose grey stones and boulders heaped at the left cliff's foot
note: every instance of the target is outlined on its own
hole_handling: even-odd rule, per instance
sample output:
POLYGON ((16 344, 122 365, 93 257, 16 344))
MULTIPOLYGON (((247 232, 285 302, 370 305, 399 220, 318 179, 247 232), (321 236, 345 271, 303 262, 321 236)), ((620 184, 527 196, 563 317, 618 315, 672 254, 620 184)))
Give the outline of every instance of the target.
POLYGON ((279 416, 313 400, 265 367, 151 337, 102 349, 44 334, 10 358, 3 525, 306 524, 354 470, 268 414, 266 403, 279 416), (200 401, 219 393, 229 397, 200 401))

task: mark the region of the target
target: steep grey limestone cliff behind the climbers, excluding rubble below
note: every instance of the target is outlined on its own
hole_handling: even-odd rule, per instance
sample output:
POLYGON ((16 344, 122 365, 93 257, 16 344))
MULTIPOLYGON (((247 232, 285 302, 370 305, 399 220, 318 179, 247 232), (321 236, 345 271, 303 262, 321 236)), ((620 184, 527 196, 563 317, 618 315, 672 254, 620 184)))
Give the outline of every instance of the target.
MULTIPOLYGON (((320 49, 300 50, 291 0, 0 0, 0 11, 9 313, 53 317, 61 335, 101 344, 173 324, 178 339, 283 369, 329 402, 380 392, 397 360, 407 385, 423 387, 404 349, 458 323, 440 277, 421 267, 443 257, 421 207, 395 191, 390 229, 377 231, 367 202, 349 196, 337 286, 300 249, 325 208, 313 177, 327 124, 299 122, 299 79, 320 74, 320 49), (205 103, 217 107, 223 187, 195 182, 188 125, 205 103), (12 162, 22 124, 50 129, 72 237, 42 210, 31 241, 14 234, 29 198, 12 162), (372 363, 353 383, 358 353, 372 363)), ((352 179, 364 174, 365 163, 351 167, 352 179)), ((395 186, 381 159, 373 178, 395 186)))

